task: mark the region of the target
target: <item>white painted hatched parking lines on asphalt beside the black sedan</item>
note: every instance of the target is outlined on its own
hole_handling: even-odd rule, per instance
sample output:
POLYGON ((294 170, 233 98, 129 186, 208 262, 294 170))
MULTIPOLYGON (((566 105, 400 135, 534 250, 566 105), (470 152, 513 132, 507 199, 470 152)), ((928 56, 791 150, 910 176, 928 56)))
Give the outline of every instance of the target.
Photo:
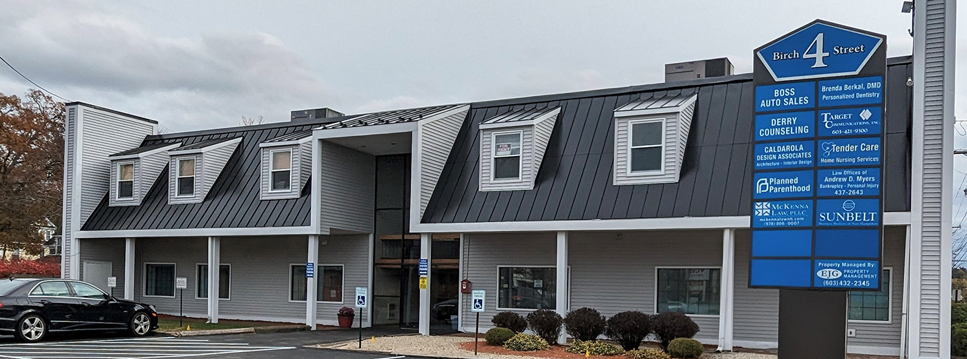
POLYGON ((247 343, 209 343, 204 339, 111 339, 101 341, 0 344, 7 359, 160 359, 240 354, 294 349, 294 346, 255 346, 247 343))

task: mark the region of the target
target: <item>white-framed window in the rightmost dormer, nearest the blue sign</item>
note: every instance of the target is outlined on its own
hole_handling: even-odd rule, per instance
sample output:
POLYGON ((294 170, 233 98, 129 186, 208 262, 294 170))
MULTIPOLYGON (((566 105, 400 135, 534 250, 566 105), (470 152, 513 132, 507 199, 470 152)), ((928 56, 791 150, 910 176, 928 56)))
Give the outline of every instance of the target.
POLYGON ((632 120, 629 122, 630 166, 628 174, 660 172, 664 154, 664 119, 632 120))

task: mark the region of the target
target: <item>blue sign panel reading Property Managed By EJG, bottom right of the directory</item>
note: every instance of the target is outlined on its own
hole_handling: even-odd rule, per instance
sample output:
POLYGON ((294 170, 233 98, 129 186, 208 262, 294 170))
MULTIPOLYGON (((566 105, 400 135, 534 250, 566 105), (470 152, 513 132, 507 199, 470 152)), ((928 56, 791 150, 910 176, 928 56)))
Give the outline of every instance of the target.
POLYGON ((876 289, 880 287, 879 260, 816 259, 813 286, 876 289))

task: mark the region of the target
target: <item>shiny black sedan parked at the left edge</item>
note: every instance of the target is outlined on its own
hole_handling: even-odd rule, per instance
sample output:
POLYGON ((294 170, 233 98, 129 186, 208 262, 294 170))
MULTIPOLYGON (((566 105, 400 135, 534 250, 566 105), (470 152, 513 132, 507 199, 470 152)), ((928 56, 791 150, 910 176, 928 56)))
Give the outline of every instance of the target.
POLYGON ((158 329, 152 306, 120 300, 97 286, 61 279, 0 279, 0 334, 39 342, 47 333, 158 329))

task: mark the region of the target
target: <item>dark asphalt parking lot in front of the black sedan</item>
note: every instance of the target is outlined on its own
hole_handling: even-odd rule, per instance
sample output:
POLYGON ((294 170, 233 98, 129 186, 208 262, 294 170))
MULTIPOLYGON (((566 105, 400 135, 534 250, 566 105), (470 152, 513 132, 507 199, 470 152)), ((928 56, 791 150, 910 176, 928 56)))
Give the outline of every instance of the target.
MULTIPOLYGON (((398 334, 396 331, 366 330, 364 336, 398 334)), ((356 331, 314 331, 268 334, 237 334, 208 337, 116 338, 54 337, 37 344, 20 344, 0 337, 0 359, 154 359, 154 358, 238 358, 238 359, 404 359, 404 356, 357 353, 305 347, 357 338, 356 331)))

